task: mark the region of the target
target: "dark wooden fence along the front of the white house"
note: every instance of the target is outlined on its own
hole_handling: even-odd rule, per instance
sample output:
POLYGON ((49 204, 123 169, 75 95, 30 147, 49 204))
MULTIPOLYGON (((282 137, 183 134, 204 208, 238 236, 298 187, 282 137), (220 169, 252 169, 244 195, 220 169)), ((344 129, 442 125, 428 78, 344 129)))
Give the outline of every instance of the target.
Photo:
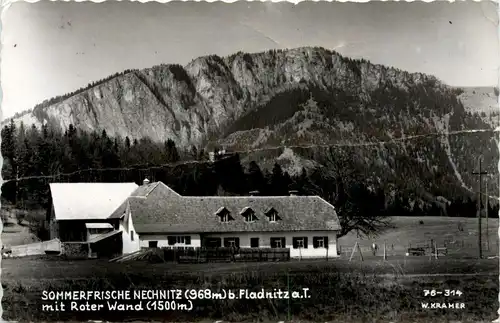
POLYGON ((288 248, 164 247, 164 261, 180 263, 289 261, 288 248))

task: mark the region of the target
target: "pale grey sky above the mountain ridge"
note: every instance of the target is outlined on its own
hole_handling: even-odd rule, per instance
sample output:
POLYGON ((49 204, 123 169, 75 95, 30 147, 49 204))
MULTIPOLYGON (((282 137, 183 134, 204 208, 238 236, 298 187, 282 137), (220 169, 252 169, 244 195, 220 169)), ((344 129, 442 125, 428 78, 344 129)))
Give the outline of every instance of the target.
POLYGON ((2 16, 2 117, 124 69, 301 46, 495 86, 498 40, 492 2, 19 2, 2 16))

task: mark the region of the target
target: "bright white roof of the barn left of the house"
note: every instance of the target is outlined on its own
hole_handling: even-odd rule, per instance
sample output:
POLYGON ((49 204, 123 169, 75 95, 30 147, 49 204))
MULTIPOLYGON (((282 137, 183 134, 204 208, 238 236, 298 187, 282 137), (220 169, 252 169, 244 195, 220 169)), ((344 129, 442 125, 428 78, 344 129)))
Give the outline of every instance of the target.
POLYGON ((50 183, 56 220, 104 220, 137 189, 135 183, 50 183))

